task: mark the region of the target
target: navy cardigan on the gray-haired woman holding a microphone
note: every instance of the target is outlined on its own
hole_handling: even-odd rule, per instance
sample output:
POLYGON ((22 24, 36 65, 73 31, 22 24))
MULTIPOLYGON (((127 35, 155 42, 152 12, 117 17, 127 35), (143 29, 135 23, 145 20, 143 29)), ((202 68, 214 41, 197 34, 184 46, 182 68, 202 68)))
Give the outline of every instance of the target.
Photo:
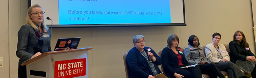
MULTIPOLYGON (((148 48, 150 48, 150 47, 145 46, 144 51, 148 48)), ((152 62, 156 68, 157 73, 160 74, 161 71, 158 68, 158 65, 162 64, 162 59, 156 54, 156 52, 154 50, 152 50, 152 48, 150 48, 150 49, 151 49, 150 52, 154 54, 154 57, 156 57, 156 61, 155 62, 152 61, 152 62)), ((148 78, 149 75, 153 76, 153 72, 150 69, 150 66, 149 66, 146 58, 143 57, 143 55, 135 47, 132 48, 128 52, 127 57, 126 57, 126 62, 129 66, 130 78, 136 78, 136 77, 148 78)))

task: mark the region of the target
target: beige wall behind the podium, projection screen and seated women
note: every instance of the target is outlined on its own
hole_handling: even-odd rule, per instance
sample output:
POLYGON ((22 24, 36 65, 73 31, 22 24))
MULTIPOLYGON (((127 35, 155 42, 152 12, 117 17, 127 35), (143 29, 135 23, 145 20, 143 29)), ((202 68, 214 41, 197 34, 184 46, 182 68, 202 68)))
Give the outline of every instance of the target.
MULTIPOLYGON (((5 58, 5 66, 0 67, 0 71, 6 71, 0 73, 0 78, 17 78, 17 32, 25 23, 27 5, 27 0, 0 1, 0 17, 4 18, 0 20, 0 36, 4 37, 1 40, 5 44, 0 45, 4 47, 0 57, 5 58)), ((144 35, 145 46, 156 52, 167 45, 171 33, 179 36, 180 47, 186 47, 190 35, 197 35, 200 46, 205 46, 211 43, 211 35, 219 32, 220 43, 228 44, 234 32, 241 30, 249 45, 255 46, 251 12, 250 0, 185 0, 187 26, 54 28, 51 46, 54 48, 58 38, 81 37, 78 48, 93 48, 88 52, 89 78, 125 78, 122 54, 134 47, 135 35, 144 35)), ((255 53, 255 47, 251 50, 255 53)))

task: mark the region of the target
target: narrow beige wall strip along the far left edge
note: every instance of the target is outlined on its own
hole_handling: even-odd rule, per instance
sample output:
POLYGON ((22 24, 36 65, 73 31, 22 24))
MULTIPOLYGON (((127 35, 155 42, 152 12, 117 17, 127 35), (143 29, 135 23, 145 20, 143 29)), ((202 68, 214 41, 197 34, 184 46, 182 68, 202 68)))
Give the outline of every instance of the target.
POLYGON ((3 67, 0 67, 0 78, 9 78, 9 28, 8 0, 0 0, 0 57, 3 57, 3 67))

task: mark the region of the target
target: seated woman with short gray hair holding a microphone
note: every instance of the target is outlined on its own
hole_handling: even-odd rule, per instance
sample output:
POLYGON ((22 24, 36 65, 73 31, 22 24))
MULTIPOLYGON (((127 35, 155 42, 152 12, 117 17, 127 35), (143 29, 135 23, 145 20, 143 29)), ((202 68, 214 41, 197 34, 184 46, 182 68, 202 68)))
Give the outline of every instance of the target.
POLYGON ((160 74, 158 65, 162 64, 162 60, 152 48, 145 46, 144 36, 136 35, 132 41, 135 47, 126 57, 130 78, 154 78, 160 74))

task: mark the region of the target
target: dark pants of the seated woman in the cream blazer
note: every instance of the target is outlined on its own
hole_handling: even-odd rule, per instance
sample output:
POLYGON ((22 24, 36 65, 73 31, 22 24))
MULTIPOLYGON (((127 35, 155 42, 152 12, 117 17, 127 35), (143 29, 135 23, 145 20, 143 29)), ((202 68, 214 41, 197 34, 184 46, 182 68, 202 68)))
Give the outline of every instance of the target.
POLYGON ((241 69, 233 62, 226 61, 215 63, 215 66, 221 71, 226 71, 228 73, 228 78, 239 78, 241 76, 245 76, 241 69))

